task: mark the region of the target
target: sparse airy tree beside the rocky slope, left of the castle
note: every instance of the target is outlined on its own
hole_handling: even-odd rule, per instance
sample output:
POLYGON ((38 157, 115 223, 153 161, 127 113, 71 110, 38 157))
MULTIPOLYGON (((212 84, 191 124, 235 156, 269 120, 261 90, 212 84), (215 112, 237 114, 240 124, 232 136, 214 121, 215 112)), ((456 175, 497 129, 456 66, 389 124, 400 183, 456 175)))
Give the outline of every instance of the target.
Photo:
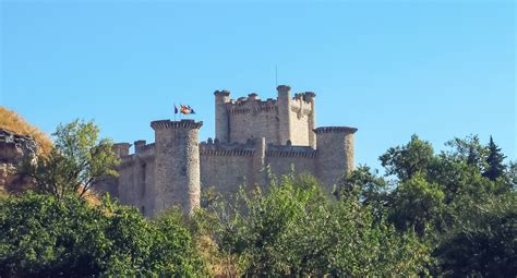
POLYGON ((99 129, 93 122, 60 124, 52 135, 50 154, 36 164, 26 161, 21 169, 33 178, 36 191, 59 198, 70 193, 82 197, 100 179, 117 174, 119 161, 112 143, 99 140, 99 129))

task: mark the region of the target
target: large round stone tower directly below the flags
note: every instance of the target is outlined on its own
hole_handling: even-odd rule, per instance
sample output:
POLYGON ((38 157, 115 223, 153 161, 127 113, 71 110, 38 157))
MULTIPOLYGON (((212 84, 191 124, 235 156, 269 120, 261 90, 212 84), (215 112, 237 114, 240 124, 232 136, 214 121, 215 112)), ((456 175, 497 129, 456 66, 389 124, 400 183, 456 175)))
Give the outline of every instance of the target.
POLYGON ((189 214, 200 206, 201 173, 199 131, 194 120, 154 121, 155 185, 153 215, 178 205, 189 214))

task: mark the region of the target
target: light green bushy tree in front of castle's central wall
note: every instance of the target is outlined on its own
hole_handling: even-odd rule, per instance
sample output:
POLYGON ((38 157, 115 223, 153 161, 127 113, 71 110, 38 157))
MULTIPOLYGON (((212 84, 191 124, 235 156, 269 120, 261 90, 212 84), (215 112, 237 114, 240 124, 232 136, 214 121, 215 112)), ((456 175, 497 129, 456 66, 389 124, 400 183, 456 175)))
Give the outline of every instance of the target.
POLYGON ((239 200, 212 232, 240 257, 243 275, 411 276, 432 261, 413 232, 398 232, 356 198, 327 200, 314 179, 286 176, 239 200))

